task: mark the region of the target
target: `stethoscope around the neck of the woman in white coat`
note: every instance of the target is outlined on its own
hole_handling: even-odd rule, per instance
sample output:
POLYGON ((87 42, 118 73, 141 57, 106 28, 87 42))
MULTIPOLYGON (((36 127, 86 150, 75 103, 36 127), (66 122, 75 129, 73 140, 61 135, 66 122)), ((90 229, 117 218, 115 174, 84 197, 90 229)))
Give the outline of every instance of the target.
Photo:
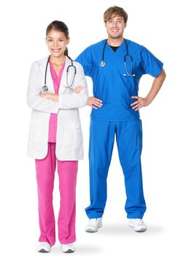
MULTIPOLYGON (((68 56, 68 58, 71 61, 71 65, 69 65, 66 69, 66 86, 65 87, 70 89, 72 87, 73 83, 74 83, 74 79, 75 79, 75 76, 76 76, 77 69, 73 64, 73 60, 69 56, 68 56), (72 78, 72 83, 69 84, 68 76, 69 76, 69 69, 70 68, 74 69, 74 75, 73 75, 73 78, 72 78)), ((47 67, 48 67, 49 61, 50 61, 50 56, 47 59, 47 64, 46 64, 46 67, 45 67, 45 85, 42 86, 42 91, 44 91, 44 92, 48 91, 48 87, 46 86, 46 79, 47 79, 47 67)))

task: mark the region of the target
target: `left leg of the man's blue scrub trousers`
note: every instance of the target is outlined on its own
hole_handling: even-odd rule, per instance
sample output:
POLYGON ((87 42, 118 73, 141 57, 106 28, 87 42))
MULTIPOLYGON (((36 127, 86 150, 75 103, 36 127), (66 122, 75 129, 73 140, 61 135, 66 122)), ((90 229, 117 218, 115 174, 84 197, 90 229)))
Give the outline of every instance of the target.
POLYGON ((99 218, 104 213, 107 200, 107 174, 114 138, 113 122, 90 121, 90 206, 85 208, 89 219, 99 218))

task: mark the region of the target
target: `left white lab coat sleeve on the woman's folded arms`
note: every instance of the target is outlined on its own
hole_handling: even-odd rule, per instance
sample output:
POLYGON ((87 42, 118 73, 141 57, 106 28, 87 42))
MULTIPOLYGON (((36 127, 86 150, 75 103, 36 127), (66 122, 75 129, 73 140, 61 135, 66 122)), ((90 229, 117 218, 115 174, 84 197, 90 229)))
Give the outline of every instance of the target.
POLYGON ((58 102, 52 99, 44 99, 39 96, 41 93, 41 74, 38 65, 34 62, 28 80, 27 102, 28 106, 34 110, 45 113, 58 113, 58 102))

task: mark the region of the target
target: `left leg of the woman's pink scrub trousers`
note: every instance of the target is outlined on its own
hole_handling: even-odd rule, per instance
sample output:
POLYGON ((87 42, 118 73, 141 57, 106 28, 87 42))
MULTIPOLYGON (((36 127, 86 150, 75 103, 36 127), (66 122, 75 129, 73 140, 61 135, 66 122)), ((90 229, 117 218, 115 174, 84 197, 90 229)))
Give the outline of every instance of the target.
POLYGON ((55 177, 55 143, 48 143, 45 159, 36 159, 36 181, 38 187, 39 241, 55 244, 55 217, 53 211, 53 186, 55 177))

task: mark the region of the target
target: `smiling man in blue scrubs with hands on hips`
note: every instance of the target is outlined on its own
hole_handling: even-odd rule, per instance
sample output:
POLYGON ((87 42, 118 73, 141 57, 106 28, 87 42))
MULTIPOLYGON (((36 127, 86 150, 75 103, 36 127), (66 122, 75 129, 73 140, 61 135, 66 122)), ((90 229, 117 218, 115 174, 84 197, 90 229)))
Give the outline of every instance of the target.
POLYGON ((128 225, 135 231, 147 230, 142 221, 146 204, 142 187, 142 121, 139 109, 149 105, 161 89, 166 74, 161 61, 147 48, 123 38, 128 15, 120 7, 104 12, 108 39, 86 48, 77 61, 93 80, 93 95, 87 105, 90 115, 90 221, 88 232, 98 231, 107 201, 107 174, 116 137, 120 164, 125 177, 128 225), (154 77, 146 97, 138 96, 144 74, 154 77))

